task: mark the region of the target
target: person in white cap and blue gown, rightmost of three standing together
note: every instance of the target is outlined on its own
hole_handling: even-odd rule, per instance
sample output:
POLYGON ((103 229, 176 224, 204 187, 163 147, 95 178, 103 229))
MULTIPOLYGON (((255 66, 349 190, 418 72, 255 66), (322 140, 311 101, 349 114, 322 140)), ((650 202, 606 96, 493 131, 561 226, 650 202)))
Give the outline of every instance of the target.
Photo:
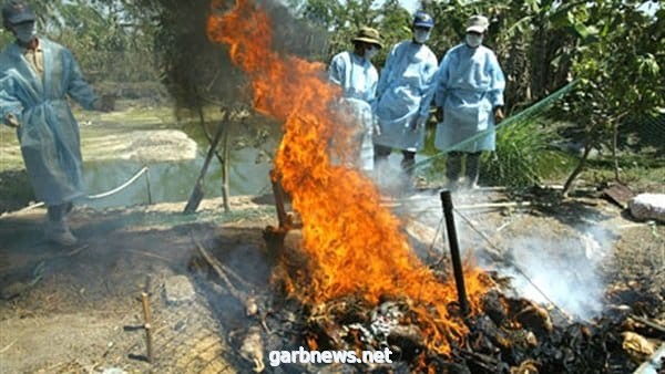
POLYGON ((503 120, 505 79, 494 52, 482 45, 488 25, 487 18, 471 17, 464 42, 446 53, 437 73, 434 146, 448 152, 446 177, 453 189, 478 186, 481 152, 495 149, 494 125, 503 120))

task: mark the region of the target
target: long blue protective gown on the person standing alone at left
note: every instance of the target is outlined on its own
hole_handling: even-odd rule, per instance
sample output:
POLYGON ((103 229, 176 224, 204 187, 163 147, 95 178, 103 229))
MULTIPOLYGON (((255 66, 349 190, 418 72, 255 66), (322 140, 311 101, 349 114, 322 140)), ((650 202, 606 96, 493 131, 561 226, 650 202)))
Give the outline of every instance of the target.
POLYGON ((86 110, 96 96, 83 80, 72 53, 47 39, 43 79, 12 43, 0 53, 0 118, 12 113, 19 121, 21 153, 37 197, 47 206, 83 197, 79 125, 65 95, 86 110))

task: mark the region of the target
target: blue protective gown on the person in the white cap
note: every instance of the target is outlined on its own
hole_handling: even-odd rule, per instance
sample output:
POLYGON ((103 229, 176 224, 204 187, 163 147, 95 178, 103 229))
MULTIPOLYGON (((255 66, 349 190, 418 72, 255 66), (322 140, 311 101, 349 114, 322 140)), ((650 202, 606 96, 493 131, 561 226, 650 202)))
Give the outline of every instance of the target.
POLYGON ((494 52, 464 43, 452 48, 443 56, 436 85, 434 102, 443 108, 443 122, 437 125, 434 146, 444 152, 494 150, 493 110, 503 105, 505 87, 494 52), (485 129, 488 134, 464 142, 485 129))

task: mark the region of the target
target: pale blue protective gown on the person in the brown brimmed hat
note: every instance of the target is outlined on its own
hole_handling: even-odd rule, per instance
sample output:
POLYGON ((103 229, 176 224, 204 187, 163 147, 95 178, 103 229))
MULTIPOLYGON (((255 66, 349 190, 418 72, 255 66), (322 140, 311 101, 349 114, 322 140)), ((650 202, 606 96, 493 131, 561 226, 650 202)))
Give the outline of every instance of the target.
POLYGON ((341 86, 344 97, 339 111, 352 128, 354 162, 364 170, 374 169, 374 115, 371 105, 376 97, 379 74, 370 61, 355 53, 341 52, 332 58, 328 79, 341 86))

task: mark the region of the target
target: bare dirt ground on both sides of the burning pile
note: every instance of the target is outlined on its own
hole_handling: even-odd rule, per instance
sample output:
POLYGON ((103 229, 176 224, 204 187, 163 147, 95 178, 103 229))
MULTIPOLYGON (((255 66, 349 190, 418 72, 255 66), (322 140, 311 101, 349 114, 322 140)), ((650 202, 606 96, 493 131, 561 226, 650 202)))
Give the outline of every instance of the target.
MULTIPOLYGON (((603 308, 613 302, 612 290, 622 287, 661 301, 665 297, 663 225, 636 222, 595 196, 515 206, 505 204, 514 198, 502 193, 479 194, 481 198, 453 196, 464 216, 457 222, 462 247, 482 252, 492 242, 508 253, 518 247, 519 238, 572 242, 565 248, 577 248, 579 253, 563 245, 534 250, 546 250, 554 259, 587 259, 587 269, 597 266, 603 308), (505 206, 483 208, 490 204, 505 206), (581 227, 603 232, 594 237, 596 245, 584 246, 581 227)), ((436 221, 432 211, 439 201, 434 194, 391 202, 400 216, 420 219, 420 233, 412 238, 423 253, 442 247, 436 224, 422 214, 430 212, 436 221)), ((267 289, 272 256, 263 238, 267 226, 277 225, 273 199, 234 197, 228 214, 223 212, 219 199, 204 200, 195 216, 183 216, 183 207, 79 208, 72 227, 81 243, 74 248, 43 241, 41 209, 0 217, 0 372, 250 372, 252 365, 239 357, 233 339, 250 318, 218 279, 202 270, 195 240, 248 284, 267 289), (195 292, 185 300, 173 300, 165 291, 166 283, 183 280, 177 276, 194 285, 195 292), (145 360, 141 329, 142 292, 150 294, 152 363, 145 360)), ((519 257, 515 253, 511 256, 519 257)), ((491 266, 491 261, 483 262, 491 266)), ((577 276, 585 280, 584 274, 577 276)), ((665 321, 665 307, 642 310, 636 300, 628 305, 634 313, 665 321)))

